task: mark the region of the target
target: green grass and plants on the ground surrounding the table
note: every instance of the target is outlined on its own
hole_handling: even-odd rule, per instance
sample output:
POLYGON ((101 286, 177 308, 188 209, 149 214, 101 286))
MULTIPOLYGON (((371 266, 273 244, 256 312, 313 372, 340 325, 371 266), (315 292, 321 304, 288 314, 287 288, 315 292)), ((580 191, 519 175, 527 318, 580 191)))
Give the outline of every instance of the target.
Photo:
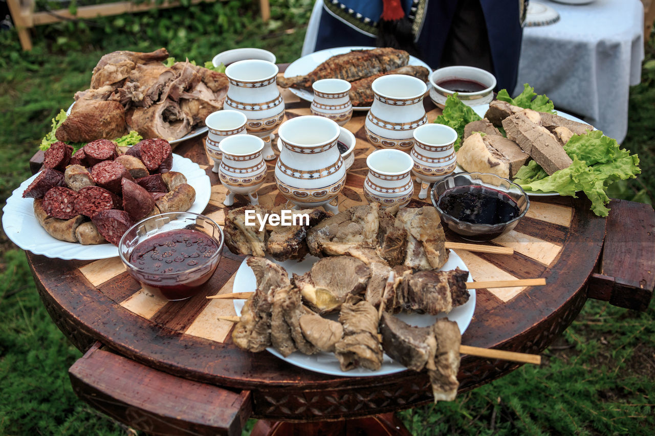
MULTIPOLYGON (((187 9, 63 22, 33 31, 20 50, 0 32, 0 200, 29 177, 28 160, 50 118, 113 50, 149 51, 198 62, 238 46, 267 48, 278 62, 299 56, 311 0, 274 0, 272 20, 257 2, 221 1, 187 9)), ((52 8, 45 1, 40 9, 52 8)), ((537 90, 538 91, 538 90, 537 90)), ((557 102, 555 102, 557 104, 557 102)), ((642 82, 631 89, 624 147, 641 158, 637 180, 612 196, 652 204, 655 193, 655 37, 646 47, 642 82)), ((400 412, 414 435, 655 433, 655 309, 643 313, 589 300, 563 336, 495 382, 439 403, 400 412)), ((0 232, 0 435, 123 435, 128 429, 83 403, 67 369, 81 356, 48 317, 24 252, 0 232)), ((252 427, 252 421, 249 426, 252 427)), ((248 433, 248 431, 244 431, 248 433)))

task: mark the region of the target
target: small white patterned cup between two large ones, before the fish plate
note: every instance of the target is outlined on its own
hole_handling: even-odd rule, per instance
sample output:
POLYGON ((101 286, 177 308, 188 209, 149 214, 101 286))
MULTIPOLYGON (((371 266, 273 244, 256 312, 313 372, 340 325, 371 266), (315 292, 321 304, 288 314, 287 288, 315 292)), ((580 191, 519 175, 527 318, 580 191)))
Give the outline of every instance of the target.
POLYGON ((343 79, 320 79, 312 84, 314 100, 309 107, 312 115, 329 118, 343 126, 352 118, 350 82, 343 79))

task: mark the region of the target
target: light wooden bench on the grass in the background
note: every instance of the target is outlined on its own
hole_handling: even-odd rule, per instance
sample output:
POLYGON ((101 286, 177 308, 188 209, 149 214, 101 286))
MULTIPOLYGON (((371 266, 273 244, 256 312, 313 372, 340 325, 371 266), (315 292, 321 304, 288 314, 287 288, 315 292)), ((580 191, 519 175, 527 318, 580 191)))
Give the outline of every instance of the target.
MULTIPOLYGON (((212 3, 216 0, 191 0, 192 5, 198 3, 212 3)), ((96 18, 98 16, 113 16, 134 12, 145 12, 150 9, 169 9, 181 6, 179 0, 164 0, 160 5, 155 2, 135 4, 131 1, 120 1, 117 3, 105 3, 103 5, 90 5, 77 8, 75 14, 68 9, 35 12, 35 0, 7 0, 9 12, 14 26, 18 30, 18 39, 23 50, 32 49, 32 41, 29 36, 29 29, 42 24, 52 24, 64 20, 75 20, 79 18, 96 18)), ((261 19, 267 22, 271 18, 271 5, 269 0, 259 0, 261 19)))

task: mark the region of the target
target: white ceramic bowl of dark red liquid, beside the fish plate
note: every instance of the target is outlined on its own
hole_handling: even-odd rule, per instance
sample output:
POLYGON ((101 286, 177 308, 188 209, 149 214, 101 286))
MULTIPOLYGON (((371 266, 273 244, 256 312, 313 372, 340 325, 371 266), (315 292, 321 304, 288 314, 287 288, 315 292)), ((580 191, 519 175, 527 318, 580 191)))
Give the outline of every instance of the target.
POLYGON ((443 109, 455 92, 467 106, 485 105, 493 100, 496 77, 481 68, 455 65, 436 69, 430 74, 430 98, 443 109))

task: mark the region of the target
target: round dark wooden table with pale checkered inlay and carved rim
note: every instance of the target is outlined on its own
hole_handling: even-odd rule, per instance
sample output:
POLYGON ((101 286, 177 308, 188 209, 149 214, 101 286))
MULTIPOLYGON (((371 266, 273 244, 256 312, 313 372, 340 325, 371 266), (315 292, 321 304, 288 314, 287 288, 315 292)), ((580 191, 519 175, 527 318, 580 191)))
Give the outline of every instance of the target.
MULTIPOLYGON (((309 103, 288 92, 284 97, 287 117, 309 114, 309 103)), ((428 119, 434 120, 440 110, 430 101, 425 105, 428 119)), ((339 196, 342 210, 365 202, 365 156, 373 148, 365 139, 364 116, 356 112, 346 125, 357 146, 339 196)), ((212 198, 204 213, 223 224, 225 189, 211 171, 202 141, 181 143, 175 153, 206 170, 212 198)), ((268 162, 269 173, 259 191, 259 201, 267 207, 284 203, 274 183, 273 164, 268 162)), ((415 185, 415 192, 418 188, 415 185)), ((246 198, 236 198, 234 207, 246 204, 246 198)), ((567 328, 588 297, 645 309, 654 285, 649 266, 655 247, 652 208, 631 202, 612 202, 611 207, 612 215, 604 219, 589 211, 586 199, 534 197, 519 225, 491 242, 513 247, 514 255, 457 251, 476 280, 544 277, 547 282, 540 287, 477 289, 474 318, 462 344, 538 354, 567 328), (631 232, 622 231, 626 228, 631 232)), ((454 234, 447 238, 458 241, 454 234)), ((348 423, 351 429, 369 426, 398 433, 403 429, 395 427, 402 424, 389 424, 388 415, 343 420, 432 401, 425 372, 342 378, 297 368, 268 352, 238 349, 231 341, 233 325, 217 319, 234 315, 233 303, 205 298, 233 291, 234 272, 243 257, 227 249, 202 293, 182 302, 143 293, 118 258, 63 261, 28 253, 28 260, 50 316, 86 352, 69 370, 77 394, 149 433, 240 434, 250 416, 269 420, 260 421, 256 433, 292 433, 291 427, 272 423, 277 421, 326 420, 342 420, 330 427, 340 433, 348 423)), ((463 355, 460 391, 518 366, 463 355)), ((309 434, 307 426, 294 428, 297 434, 302 433, 299 428, 309 434)))

